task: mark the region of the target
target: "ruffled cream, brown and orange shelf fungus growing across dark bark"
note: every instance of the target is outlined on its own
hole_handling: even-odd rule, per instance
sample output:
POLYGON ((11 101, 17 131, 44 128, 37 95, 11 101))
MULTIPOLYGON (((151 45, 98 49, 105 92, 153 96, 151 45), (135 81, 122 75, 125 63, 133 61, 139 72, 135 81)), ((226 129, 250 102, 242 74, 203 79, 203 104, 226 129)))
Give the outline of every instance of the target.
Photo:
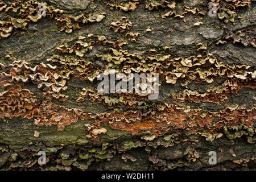
MULTIPOLYGON (((190 56, 174 56, 173 46, 170 45, 160 48, 145 47, 146 51, 143 53, 130 48, 133 44, 141 44, 140 40, 145 36, 143 34, 152 34, 154 31, 152 26, 146 27, 143 31, 136 31, 133 28, 134 24, 139 22, 134 22, 129 14, 136 12, 139 7, 140 11, 147 13, 160 11, 159 18, 166 23, 175 20, 188 24, 186 17, 195 16, 197 22, 189 26, 200 27, 204 26, 203 20, 208 16, 208 4, 211 2, 217 7, 216 19, 224 25, 223 36, 217 40, 210 40, 214 46, 225 46, 230 43, 255 50, 255 25, 253 31, 249 31, 248 27, 232 31, 225 28, 225 24, 233 26, 242 19, 239 14, 241 10, 255 7, 255 2, 249 0, 207 1, 191 7, 184 5, 183 1, 110 1, 105 4, 96 1, 94 3, 102 5, 98 11, 79 15, 68 13, 54 4, 46 4, 46 16, 38 14, 40 2, 36 0, 0 1, 0 42, 20 36, 21 32, 27 31, 28 24, 40 24, 42 19, 54 20, 59 32, 76 36, 72 42, 58 44, 52 55, 40 63, 19 59, 13 53, 5 52, 3 61, 0 61, 1 122, 19 117, 30 119, 39 126, 56 125, 56 132, 62 132, 65 131, 65 127, 76 122, 90 121, 84 125, 84 135, 90 142, 101 143, 102 150, 91 150, 92 152, 86 155, 82 152, 62 152, 61 159, 66 163, 55 169, 63 170, 71 169, 69 166, 72 165, 87 169, 94 158, 111 160, 116 152, 123 152, 122 160, 125 162, 136 162, 134 156, 124 151, 145 147, 146 152, 150 153, 150 147, 171 147, 175 143, 186 142, 189 139, 182 137, 180 131, 183 130, 190 135, 204 137, 209 142, 225 135, 230 140, 243 137, 248 143, 255 144, 255 96, 254 105, 251 107, 230 101, 241 89, 255 89, 255 64, 225 63, 221 57, 210 53, 209 42, 193 45, 195 51, 190 56), (76 34, 84 26, 104 23, 109 13, 116 11, 121 11, 126 16, 122 14, 114 19, 110 18, 109 34, 76 34), (113 34, 115 37, 110 37, 113 34), (93 51, 98 49, 104 51, 93 51), (88 54, 93 55, 93 59, 87 59, 88 54), (150 101, 147 96, 135 93, 99 93, 96 86, 98 76, 101 73, 110 76, 112 69, 115 70, 115 74, 125 73, 127 76, 129 73, 158 73, 159 99, 150 101), (79 89, 76 94, 69 94, 73 93, 69 83, 74 81, 86 82, 88 86, 79 89), (37 88, 37 93, 26 85, 37 88), (195 86, 191 85, 205 86, 206 89, 201 92, 193 89, 195 86), (175 88, 168 93, 168 98, 164 97, 167 88, 175 88), (38 98, 38 94, 42 97, 38 98), (100 104, 106 109, 93 113, 81 107, 65 105, 71 100, 79 106, 83 103, 100 104), (221 109, 211 111, 205 109, 206 106, 200 108, 204 103, 221 109), (193 104, 196 106, 192 106, 193 104), (138 136, 141 142, 127 144, 126 141, 126 146, 123 143, 115 147, 114 144, 102 142, 100 136, 108 133, 106 123, 111 130, 127 131, 133 136, 138 136), (104 150, 106 151, 103 152, 104 150), (69 164, 67 160, 72 155, 72 162, 69 161, 69 164), (77 162, 80 159, 85 162, 77 162)), ((36 137, 39 137, 39 134, 36 137)), ((184 156, 189 163, 199 158, 198 152, 193 148, 187 148, 184 156)), ((254 159, 255 157, 234 161, 241 164, 254 159)), ((174 169, 182 166, 181 163, 171 165, 156 156, 150 156, 148 161, 154 169, 174 169)), ((35 163, 27 166, 32 167, 32 164, 35 163)), ((18 165, 24 166, 26 165, 18 165)))

